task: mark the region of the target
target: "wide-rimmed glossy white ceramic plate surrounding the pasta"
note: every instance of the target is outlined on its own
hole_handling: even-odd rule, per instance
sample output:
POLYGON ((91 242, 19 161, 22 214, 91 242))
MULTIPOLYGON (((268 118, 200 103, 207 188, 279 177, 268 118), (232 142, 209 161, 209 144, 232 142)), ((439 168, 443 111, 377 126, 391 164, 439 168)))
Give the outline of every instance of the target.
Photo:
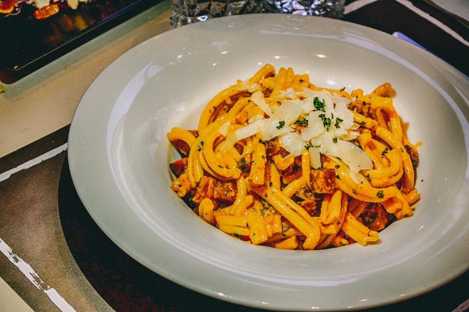
POLYGON ((468 90, 440 59, 356 24, 271 14, 199 22, 132 48, 96 78, 73 117, 70 171, 119 247, 192 290, 273 310, 390 304, 468 269, 468 90), (282 251, 219 232, 171 192, 166 133, 195 129, 209 99, 267 62, 309 73, 318 86, 393 85, 410 141, 423 142, 414 216, 366 247, 282 251))

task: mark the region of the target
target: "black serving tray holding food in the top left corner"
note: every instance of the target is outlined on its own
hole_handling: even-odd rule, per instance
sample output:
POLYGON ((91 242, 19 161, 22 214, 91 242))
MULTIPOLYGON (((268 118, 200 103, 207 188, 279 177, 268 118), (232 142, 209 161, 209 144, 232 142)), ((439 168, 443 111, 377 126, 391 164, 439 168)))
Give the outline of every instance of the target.
POLYGON ((34 18, 31 5, 0 14, 0 81, 18 81, 160 1, 90 0, 43 20, 34 18))

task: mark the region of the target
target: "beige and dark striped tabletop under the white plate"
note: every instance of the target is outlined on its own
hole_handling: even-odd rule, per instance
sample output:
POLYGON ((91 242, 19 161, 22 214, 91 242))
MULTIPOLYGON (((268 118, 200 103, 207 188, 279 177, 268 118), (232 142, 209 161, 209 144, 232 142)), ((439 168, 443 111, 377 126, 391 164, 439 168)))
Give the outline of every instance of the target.
MULTIPOLYGON (((347 0, 343 20, 414 40, 469 76, 465 5, 458 16, 430 1, 347 0)), ((71 182, 66 143, 80 98, 114 59, 169 30, 170 13, 169 0, 161 2, 3 86, 0 311, 258 311, 193 292, 141 266, 101 232, 71 182)), ((469 308, 468 285, 466 272, 434 291, 369 311, 462 312, 469 308)))

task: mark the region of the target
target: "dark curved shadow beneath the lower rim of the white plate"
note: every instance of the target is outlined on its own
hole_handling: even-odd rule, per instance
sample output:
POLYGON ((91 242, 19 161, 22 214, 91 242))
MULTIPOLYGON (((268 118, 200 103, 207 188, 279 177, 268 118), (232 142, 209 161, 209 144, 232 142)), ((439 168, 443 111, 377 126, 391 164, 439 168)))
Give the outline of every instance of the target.
MULTIPOLYGON (((189 290, 150 271, 122 251, 86 211, 73 185, 67 157, 60 176, 58 196, 62 228, 71 254, 94 289, 117 312, 263 311, 189 290)), ((364 311, 451 312, 469 298, 468 285, 469 272, 466 272, 416 298, 364 311)))

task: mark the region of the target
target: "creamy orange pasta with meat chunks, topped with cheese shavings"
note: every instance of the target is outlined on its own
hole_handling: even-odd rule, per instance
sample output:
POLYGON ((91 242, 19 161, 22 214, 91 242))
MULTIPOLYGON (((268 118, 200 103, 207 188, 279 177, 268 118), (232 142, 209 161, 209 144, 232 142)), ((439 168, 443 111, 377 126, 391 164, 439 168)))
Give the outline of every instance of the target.
POLYGON ((379 239, 418 200, 417 146, 391 84, 320 88, 266 64, 218 93, 198 129, 172 128, 171 184, 220 231, 255 245, 312 250, 379 239), (403 129, 404 128, 404 129, 403 129))

